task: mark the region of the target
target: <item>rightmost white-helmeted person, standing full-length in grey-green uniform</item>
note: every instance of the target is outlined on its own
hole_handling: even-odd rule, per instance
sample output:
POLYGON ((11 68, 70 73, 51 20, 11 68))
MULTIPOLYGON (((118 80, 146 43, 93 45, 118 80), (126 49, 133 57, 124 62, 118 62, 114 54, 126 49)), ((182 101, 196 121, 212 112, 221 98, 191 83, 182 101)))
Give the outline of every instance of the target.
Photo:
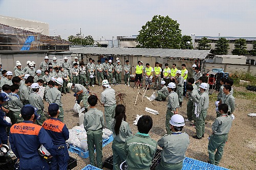
POLYGON ((202 139, 204 137, 204 127, 205 127, 205 118, 207 115, 207 109, 209 107, 209 95, 205 92, 207 90, 207 83, 201 83, 200 87, 200 99, 197 105, 197 114, 196 114, 196 132, 197 135, 194 135, 195 139, 202 139))

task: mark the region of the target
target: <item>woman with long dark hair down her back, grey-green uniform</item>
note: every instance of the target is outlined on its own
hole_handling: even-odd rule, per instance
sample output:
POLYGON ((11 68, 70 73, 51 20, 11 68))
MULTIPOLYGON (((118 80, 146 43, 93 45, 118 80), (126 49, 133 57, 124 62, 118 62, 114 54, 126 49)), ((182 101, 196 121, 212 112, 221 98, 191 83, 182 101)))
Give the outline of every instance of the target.
POLYGON ((120 169, 120 162, 126 160, 124 152, 124 143, 126 137, 132 136, 130 126, 126 121, 125 107, 123 105, 117 105, 115 110, 115 117, 112 119, 111 130, 113 132, 113 169, 120 169))

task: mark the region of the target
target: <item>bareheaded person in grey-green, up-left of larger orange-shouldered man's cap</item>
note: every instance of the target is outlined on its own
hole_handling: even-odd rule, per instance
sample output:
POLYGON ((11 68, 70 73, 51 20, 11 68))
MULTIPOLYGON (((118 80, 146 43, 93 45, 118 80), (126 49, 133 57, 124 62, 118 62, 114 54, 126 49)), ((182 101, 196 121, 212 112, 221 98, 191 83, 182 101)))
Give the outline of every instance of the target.
POLYGON ((12 125, 23 122, 21 110, 23 108, 22 101, 18 96, 19 86, 17 84, 13 84, 10 87, 11 93, 9 95, 10 100, 8 101, 8 106, 10 109, 10 118, 12 125))

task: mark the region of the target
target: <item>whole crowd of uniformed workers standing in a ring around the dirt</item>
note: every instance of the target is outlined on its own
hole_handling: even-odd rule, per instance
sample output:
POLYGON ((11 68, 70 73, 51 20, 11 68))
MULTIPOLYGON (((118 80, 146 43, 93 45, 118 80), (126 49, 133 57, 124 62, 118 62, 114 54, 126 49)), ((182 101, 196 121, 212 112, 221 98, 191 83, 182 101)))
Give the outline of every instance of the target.
MULTIPOLYGON (((190 121, 190 125, 196 127, 193 138, 202 139, 205 134, 209 85, 199 67, 194 64, 193 77, 188 78, 185 64, 181 65, 181 70, 177 69, 176 64, 170 69, 167 63, 162 69, 158 62, 153 68, 148 63, 143 67, 143 63, 138 61, 135 84, 142 86, 145 81, 148 90, 154 76, 154 90, 158 88, 157 101, 167 100, 166 135, 156 142, 148 134, 153 126, 151 116, 142 116, 137 123, 138 132, 132 135, 129 124, 125 122, 125 107, 116 105, 116 94, 111 85, 121 83, 123 71, 124 83, 130 84, 129 61, 125 61, 123 68, 118 58, 114 64, 108 59, 103 64, 100 60, 97 62, 95 65, 90 58, 88 64, 79 64, 76 57, 70 65, 65 57, 63 63, 59 64, 54 57, 53 62, 49 63, 49 57, 46 56, 45 61, 40 63, 40 69, 36 69, 34 62, 28 61, 27 66, 22 68, 22 64, 17 61, 15 77, 12 71, 3 70, 0 65, 0 148, 8 144, 9 135, 12 150, 5 156, 16 156, 19 169, 67 169, 69 154, 65 141, 69 138, 69 132, 63 123, 61 96, 62 92, 66 94, 72 90, 76 102, 80 104, 82 101, 86 109, 83 125, 87 131, 90 164, 102 168, 102 129, 106 127, 113 131, 114 169, 119 169, 123 161, 126 161, 128 169, 150 169, 157 145, 163 149, 157 169, 181 169, 189 144, 189 136, 182 132, 185 121, 190 121), (98 85, 103 88, 100 98, 89 90, 89 87, 94 87, 95 75, 98 85), (113 81, 114 77, 116 82, 113 81), (45 87, 45 93, 40 96, 38 92, 42 87, 45 87), (186 120, 178 114, 185 96, 188 98, 186 120), (48 104, 47 111, 44 100, 48 104), (95 107, 98 101, 104 107, 104 114, 95 107), (44 112, 47 112, 49 119, 44 112), (10 117, 10 121, 6 116, 10 117), (38 148, 46 149, 51 156, 44 149, 38 152, 38 148), (50 167, 41 155, 51 158, 50 167)), ((235 108, 232 80, 223 78, 221 84, 216 102, 217 119, 212 125, 208 144, 209 162, 215 165, 222 158, 231 128, 231 113, 235 108)))

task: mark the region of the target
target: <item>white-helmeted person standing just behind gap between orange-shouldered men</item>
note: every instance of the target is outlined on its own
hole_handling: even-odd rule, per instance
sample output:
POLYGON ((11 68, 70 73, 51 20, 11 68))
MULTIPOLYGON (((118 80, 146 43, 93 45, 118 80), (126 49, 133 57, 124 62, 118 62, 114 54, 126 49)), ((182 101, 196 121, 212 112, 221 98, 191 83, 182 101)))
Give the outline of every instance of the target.
POLYGON ((42 101, 42 98, 40 95, 37 93, 39 91, 39 84, 38 83, 33 83, 31 85, 32 92, 29 95, 29 103, 33 107, 37 108, 37 115, 40 115, 39 119, 36 119, 36 124, 42 126, 42 124, 45 122, 45 114, 44 114, 44 102, 42 101))

